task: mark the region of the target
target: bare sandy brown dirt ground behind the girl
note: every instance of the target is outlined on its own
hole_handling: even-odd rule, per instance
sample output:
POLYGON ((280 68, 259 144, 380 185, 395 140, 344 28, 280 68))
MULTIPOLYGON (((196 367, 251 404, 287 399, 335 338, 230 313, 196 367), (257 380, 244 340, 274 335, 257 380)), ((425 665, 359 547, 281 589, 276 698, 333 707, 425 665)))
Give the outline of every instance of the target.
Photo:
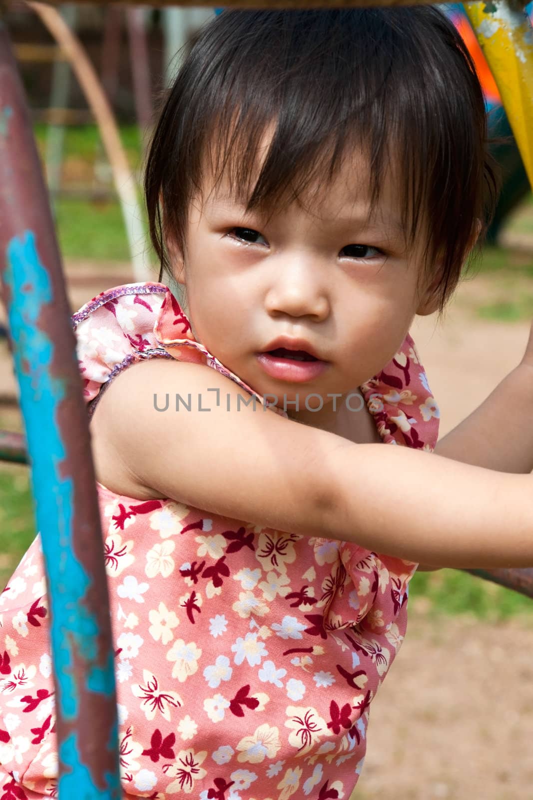
MULTIPOLYGON (((126 282, 133 282, 127 266, 67 265, 73 310, 126 282)), ((508 279, 480 275, 459 288, 444 322, 417 318, 412 328, 440 405, 441 435, 519 363, 530 322, 475 314, 476 306, 506 292, 533 296, 533 278, 517 278, 510 288, 508 279)), ((2 350, 0 396, 13 393, 2 350)), ((533 602, 531 609, 531 620, 499 624, 412 614, 372 706, 368 755, 353 798, 533 800, 533 602)))

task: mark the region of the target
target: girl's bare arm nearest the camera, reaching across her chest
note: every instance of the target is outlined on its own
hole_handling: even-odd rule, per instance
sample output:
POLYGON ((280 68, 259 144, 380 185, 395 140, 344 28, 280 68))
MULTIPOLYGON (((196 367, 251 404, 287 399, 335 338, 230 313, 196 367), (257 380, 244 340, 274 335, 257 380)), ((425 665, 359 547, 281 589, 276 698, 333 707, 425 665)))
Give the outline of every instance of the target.
POLYGON ((96 414, 145 486, 230 518, 356 542, 436 566, 533 565, 533 482, 399 446, 357 445, 281 418, 205 366, 153 359, 96 414), (221 390, 221 404, 215 393, 221 390), (166 412, 153 407, 169 394, 166 412), (173 410, 201 395, 207 413, 173 410), (226 408, 229 397, 230 411, 226 408), (175 458, 174 458, 175 454, 175 458))

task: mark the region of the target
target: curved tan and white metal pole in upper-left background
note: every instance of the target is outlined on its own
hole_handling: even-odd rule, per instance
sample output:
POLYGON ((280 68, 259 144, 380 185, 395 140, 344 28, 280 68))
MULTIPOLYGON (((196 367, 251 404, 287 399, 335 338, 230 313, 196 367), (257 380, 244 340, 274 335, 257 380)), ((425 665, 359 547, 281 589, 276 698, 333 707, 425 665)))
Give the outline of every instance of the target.
POLYGON ((137 282, 153 280, 153 275, 150 274, 148 266, 145 264, 145 230, 142 224, 141 206, 137 199, 137 185, 132 170, 129 169, 113 111, 105 97, 96 70, 89 61, 82 43, 70 30, 58 10, 40 2, 28 2, 27 5, 34 10, 35 14, 38 14, 43 25, 65 52, 97 121, 101 141, 104 144, 111 170, 113 170, 113 180, 121 203, 135 280, 137 282))

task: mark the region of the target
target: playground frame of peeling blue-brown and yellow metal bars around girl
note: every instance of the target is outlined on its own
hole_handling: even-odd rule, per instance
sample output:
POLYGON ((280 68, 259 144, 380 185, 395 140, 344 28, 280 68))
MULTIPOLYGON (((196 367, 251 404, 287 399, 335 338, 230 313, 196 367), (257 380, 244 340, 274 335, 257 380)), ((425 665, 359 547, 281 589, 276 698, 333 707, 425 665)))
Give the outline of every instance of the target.
MULTIPOLYGON (((405 4, 413 2, 406 0, 405 4)), ((227 3, 249 8, 312 8, 324 4, 324 0, 227 3)), ((349 0, 343 5, 363 4, 387 3, 349 0)), ((396 0, 396 4, 402 3, 396 0)), ((50 8, 31 5, 43 18, 51 18, 50 8)), ((198 0, 195 5, 199 5, 198 0)), ((513 6, 505 0, 486 5, 468 3, 467 13, 495 74, 533 184, 530 22, 519 2, 513 6)), ((49 587, 58 794, 60 800, 118 800, 121 788, 113 644, 89 426, 61 256, 30 114, 1 14, 0 274, 49 587)), ((77 58, 74 51, 73 58, 77 58)), ((2 458, 24 461, 25 450, 22 437, 0 434, 2 458)), ((533 570, 475 574, 533 597, 533 570)))

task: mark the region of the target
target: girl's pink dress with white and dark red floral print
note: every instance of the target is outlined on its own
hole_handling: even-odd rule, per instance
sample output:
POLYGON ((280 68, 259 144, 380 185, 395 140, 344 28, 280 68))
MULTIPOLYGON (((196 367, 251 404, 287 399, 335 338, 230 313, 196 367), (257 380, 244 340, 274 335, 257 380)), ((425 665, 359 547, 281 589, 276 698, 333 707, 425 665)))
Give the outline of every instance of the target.
MULTIPOLYGON (((143 358, 203 363, 255 394, 195 341, 160 283, 105 291, 73 322, 89 415, 143 358)), ((439 410, 410 336, 361 392, 383 442, 433 450, 439 410)), ((416 565, 175 500, 97 490, 123 797, 348 800, 370 704, 404 638, 416 565)), ((0 798, 54 797, 39 537, 1 595, 0 615, 0 798)))

